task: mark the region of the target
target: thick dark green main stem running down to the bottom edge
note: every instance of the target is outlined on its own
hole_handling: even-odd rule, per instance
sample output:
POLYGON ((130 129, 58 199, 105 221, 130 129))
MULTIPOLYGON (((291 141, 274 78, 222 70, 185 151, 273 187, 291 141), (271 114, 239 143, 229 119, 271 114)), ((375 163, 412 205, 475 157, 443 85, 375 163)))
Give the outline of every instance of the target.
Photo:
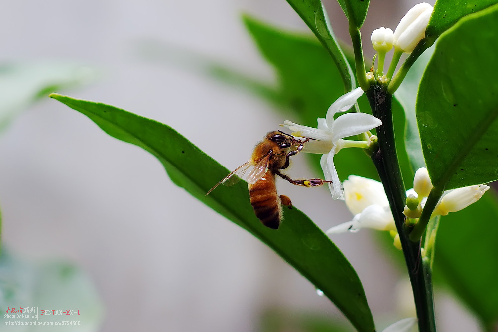
POLYGON ((414 243, 409 240, 408 231, 404 224, 403 209, 406 201, 406 190, 396 155, 392 123, 392 95, 387 93, 386 87, 381 84, 372 85, 366 94, 372 108, 372 114, 382 121, 382 125, 377 127, 379 149, 371 155, 371 159, 382 180, 403 247, 415 299, 418 328, 420 332, 435 332, 430 269, 421 261, 420 242, 414 243))

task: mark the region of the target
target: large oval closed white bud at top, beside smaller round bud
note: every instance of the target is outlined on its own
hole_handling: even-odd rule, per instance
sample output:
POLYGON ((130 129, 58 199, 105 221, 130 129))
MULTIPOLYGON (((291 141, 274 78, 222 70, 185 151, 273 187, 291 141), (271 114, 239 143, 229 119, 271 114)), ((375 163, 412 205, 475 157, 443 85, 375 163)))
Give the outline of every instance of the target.
POLYGON ((411 53, 425 37, 425 29, 434 8, 428 3, 416 4, 401 18, 394 30, 394 47, 411 53))

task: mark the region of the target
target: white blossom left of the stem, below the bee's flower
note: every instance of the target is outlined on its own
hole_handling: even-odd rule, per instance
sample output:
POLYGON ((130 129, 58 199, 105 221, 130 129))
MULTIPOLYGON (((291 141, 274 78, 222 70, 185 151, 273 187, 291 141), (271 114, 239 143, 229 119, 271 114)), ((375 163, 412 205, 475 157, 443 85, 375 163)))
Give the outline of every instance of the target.
POLYGON ((332 227, 327 234, 356 231, 360 228, 376 230, 396 230, 389 201, 382 183, 356 175, 344 181, 344 200, 346 206, 355 214, 353 220, 332 227))

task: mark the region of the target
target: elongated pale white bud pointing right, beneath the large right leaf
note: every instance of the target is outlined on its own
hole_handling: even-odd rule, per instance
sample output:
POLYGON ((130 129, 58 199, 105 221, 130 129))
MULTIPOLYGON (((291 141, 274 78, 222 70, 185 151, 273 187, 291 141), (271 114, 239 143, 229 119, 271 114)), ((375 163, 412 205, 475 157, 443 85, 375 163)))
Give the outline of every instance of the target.
POLYGON ((477 202, 490 187, 484 184, 458 188, 444 195, 433 215, 447 215, 449 212, 460 211, 477 202))

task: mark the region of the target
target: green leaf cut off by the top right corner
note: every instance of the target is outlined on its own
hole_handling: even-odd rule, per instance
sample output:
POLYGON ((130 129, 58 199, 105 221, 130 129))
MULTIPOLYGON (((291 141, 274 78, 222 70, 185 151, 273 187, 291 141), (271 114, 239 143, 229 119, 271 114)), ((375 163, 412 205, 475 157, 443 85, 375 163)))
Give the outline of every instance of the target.
POLYGON ((497 0, 437 0, 434 11, 425 30, 425 36, 431 46, 434 41, 458 20, 466 15, 478 12, 498 3, 497 0))

